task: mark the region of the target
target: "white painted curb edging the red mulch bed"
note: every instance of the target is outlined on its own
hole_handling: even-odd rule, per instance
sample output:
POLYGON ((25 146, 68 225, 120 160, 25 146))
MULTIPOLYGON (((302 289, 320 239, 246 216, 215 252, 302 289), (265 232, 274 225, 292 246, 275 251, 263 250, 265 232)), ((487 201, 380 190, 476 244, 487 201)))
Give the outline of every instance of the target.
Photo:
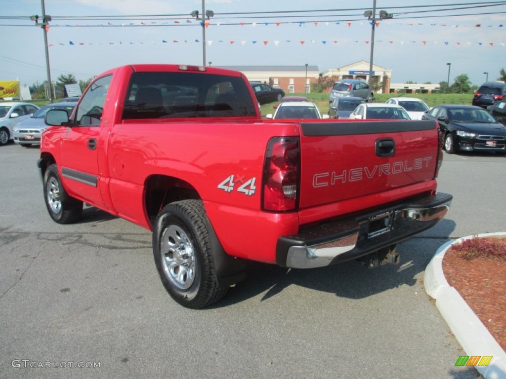
MULTIPOLYGON (((479 237, 506 235, 506 232, 478 234, 479 237)), ((424 274, 425 291, 436 299, 453 335, 467 355, 493 356, 488 366, 475 366, 486 379, 506 379, 506 353, 459 293, 450 287, 443 274, 443 257, 452 244, 473 238, 472 235, 442 245, 431 259, 424 274)))

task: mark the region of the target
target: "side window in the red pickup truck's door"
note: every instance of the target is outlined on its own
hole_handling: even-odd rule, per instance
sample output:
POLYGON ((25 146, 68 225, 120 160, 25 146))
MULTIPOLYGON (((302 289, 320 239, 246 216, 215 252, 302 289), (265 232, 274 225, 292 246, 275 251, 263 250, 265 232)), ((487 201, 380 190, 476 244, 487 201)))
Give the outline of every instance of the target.
POLYGON ((112 75, 108 75, 96 80, 86 93, 83 94, 79 108, 77 108, 77 112, 75 113, 75 125, 100 125, 111 79, 112 75))

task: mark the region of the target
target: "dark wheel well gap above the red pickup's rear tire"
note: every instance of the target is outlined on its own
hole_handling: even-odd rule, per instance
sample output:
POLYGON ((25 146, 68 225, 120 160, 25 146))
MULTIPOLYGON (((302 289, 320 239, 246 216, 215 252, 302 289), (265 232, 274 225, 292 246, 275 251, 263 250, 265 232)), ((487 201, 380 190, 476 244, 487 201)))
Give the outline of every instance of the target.
POLYGON ((151 224, 165 205, 179 200, 200 199, 190 183, 171 176, 152 175, 144 187, 146 213, 151 224))

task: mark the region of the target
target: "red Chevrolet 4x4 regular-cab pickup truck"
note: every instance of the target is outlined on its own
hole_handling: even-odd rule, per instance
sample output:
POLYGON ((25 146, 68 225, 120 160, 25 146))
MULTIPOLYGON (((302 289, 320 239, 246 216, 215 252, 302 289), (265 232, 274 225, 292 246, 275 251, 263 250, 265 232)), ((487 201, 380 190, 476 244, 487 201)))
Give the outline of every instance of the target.
POLYGON ((248 260, 398 263, 396 243, 452 199, 436 192, 436 122, 264 120, 246 77, 214 67, 112 69, 46 123, 53 220, 87 203, 152 230, 161 281, 188 308, 220 300, 248 260))

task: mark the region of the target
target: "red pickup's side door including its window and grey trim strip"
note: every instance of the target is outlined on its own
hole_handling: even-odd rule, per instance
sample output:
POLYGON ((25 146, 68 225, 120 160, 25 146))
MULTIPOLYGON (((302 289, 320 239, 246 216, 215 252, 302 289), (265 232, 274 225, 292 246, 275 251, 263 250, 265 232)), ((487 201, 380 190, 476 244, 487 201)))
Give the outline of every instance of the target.
POLYGON ((67 192, 103 205, 98 169, 99 134, 107 90, 112 75, 95 80, 74 111, 72 126, 62 135, 60 147, 62 181, 67 192))

